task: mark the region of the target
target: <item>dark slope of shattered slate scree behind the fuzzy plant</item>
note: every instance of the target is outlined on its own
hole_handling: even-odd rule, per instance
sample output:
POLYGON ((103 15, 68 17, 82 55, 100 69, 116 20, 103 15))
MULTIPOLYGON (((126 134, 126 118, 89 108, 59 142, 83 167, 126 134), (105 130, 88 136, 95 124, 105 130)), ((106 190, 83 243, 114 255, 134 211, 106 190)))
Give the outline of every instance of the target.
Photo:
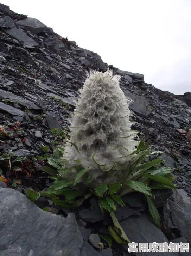
MULTIPOLYGON (((176 168, 174 183, 191 196, 191 139, 187 135, 191 128, 190 92, 173 95, 159 90, 145 83, 144 75, 108 66, 98 54, 2 4, 0 56, 0 175, 9 185, 16 184, 18 191, 50 186, 42 172, 44 159, 39 156, 51 154, 59 143, 52 128, 69 125, 66 118, 74 110, 77 90, 83 85, 87 69, 106 71, 109 67, 122 76, 121 89, 134 99, 130 108, 140 124, 136 129, 145 134, 144 140, 151 140, 156 150, 165 151, 161 158, 176 168), (14 160, 10 170, 6 154, 12 153, 33 160, 22 162, 19 167, 14 160)), ((0 182, 3 186, 2 178, 0 182)))

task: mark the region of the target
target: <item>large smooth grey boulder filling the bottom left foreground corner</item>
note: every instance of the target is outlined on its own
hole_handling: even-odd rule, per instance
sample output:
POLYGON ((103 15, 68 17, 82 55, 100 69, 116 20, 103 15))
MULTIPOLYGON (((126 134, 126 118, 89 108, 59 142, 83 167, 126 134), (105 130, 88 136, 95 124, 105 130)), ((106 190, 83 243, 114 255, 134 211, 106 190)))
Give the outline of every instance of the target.
POLYGON ((73 213, 45 212, 9 188, 0 188, 0 233, 1 256, 79 256, 83 244, 73 213))

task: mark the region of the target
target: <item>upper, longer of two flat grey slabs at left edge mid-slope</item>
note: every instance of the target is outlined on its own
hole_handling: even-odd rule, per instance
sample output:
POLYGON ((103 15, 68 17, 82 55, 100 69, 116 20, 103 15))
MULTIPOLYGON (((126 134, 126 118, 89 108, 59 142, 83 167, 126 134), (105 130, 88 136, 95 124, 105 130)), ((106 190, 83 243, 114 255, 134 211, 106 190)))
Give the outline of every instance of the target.
POLYGON ((20 96, 15 95, 12 92, 4 91, 2 89, 0 89, 0 98, 2 98, 2 99, 14 99, 20 105, 25 106, 25 107, 30 108, 30 109, 41 109, 40 106, 37 106, 36 104, 31 102, 30 100, 24 99, 20 96))

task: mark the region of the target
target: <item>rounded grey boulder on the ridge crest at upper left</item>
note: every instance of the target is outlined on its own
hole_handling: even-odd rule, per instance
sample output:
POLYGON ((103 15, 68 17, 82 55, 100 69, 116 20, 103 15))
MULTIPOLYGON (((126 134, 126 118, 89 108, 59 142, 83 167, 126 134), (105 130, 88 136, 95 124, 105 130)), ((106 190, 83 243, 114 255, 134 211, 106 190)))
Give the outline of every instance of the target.
POLYGON ((46 25, 44 25, 40 20, 34 18, 26 18, 19 20, 17 25, 20 28, 24 28, 34 34, 38 34, 43 32, 46 29, 46 25))

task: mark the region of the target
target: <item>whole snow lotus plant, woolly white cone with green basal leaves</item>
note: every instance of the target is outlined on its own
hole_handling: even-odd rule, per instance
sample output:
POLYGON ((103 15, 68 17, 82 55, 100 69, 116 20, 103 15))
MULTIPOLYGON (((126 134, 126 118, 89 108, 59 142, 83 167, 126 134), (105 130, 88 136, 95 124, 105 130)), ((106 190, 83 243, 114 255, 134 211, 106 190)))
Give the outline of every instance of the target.
MULTIPOLYGON (((145 194, 151 216, 160 226, 160 217, 152 203, 151 189, 174 188, 172 169, 158 167, 160 159, 148 161, 152 154, 138 131, 132 130, 129 117, 131 100, 119 86, 120 76, 91 71, 71 114, 69 139, 54 150, 48 163, 57 169, 53 185, 42 195, 53 202, 75 208, 88 197, 96 197, 102 213, 110 213, 114 226, 109 232, 119 243, 129 240, 114 211, 124 206, 122 195, 132 191, 145 194)), ((50 171, 50 170, 49 170, 50 171)))

